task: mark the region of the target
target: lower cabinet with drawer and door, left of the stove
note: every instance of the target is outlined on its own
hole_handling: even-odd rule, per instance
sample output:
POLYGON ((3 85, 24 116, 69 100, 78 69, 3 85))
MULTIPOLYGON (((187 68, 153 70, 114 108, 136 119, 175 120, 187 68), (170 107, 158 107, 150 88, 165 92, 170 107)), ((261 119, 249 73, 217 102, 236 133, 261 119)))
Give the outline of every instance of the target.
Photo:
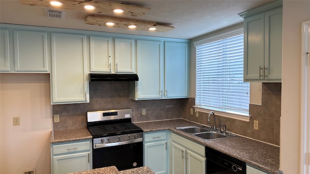
POLYGON ((52 144, 51 174, 67 174, 92 169, 92 142, 83 140, 52 144))

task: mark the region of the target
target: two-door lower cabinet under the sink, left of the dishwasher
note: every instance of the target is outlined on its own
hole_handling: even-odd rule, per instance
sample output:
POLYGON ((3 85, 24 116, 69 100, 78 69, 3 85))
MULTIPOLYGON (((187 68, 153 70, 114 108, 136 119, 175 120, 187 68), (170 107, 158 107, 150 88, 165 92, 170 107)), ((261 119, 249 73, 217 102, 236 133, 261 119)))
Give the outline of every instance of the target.
POLYGON ((171 133, 171 174, 205 174, 205 147, 171 133))

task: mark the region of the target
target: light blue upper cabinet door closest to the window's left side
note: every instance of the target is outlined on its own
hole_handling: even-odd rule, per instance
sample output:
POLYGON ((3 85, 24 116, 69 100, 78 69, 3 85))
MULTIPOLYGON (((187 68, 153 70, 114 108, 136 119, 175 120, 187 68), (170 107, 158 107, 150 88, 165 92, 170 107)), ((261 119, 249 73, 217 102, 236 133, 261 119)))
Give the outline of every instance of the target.
POLYGON ((164 97, 188 97, 188 44, 165 42, 164 67, 164 97))

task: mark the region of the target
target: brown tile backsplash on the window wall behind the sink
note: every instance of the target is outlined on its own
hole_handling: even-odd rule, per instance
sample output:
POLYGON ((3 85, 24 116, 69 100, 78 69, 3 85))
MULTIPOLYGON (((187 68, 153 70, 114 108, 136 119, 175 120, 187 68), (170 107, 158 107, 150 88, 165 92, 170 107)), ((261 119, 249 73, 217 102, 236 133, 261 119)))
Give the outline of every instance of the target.
MULTIPOLYGON (((190 115, 190 108, 195 105, 195 99, 183 99, 182 118, 194 121, 203 125, 207 124, 206 113, 195 113, 190 115)), ((249 122, 231 118, 216 116, 216 123, 224 123, 227 131, 243 135, 249 138, 260 140, 266 143, 279 145, 280 137, 280 116, 281 116, 281 83, 263 83, 262 105, 249 105, 249 122), (259 130, 254 130, 253 120, 259 121, 259 130)), ((213 123, 213 118, 211 119, 213 123)))

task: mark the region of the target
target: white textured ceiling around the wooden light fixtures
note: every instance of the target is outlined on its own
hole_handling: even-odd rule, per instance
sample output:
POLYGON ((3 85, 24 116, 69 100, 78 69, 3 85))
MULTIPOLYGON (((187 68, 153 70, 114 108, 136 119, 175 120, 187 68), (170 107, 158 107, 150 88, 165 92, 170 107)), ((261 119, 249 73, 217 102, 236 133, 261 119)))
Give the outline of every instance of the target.
MULTIPOLYGON (((115 0, 119 1, 119 0, 115 0)), ((125 34, 138 34, 171 38, 192 39, 226 28, 243 21, 239 13, 270 2, 271 0, 127 0, 126 4, 149 7, 151 11, 141 17, 175 29, 162 33, 132 29, 116 29, 85 24, 86 11, 65 10, 65 19, 49 19, 45 7, 20 4, 19 0, 0 0, 0 22, 66 29, 86 29, 125 34)), ((122 17, 122 16, 121 16, 122 17)))

